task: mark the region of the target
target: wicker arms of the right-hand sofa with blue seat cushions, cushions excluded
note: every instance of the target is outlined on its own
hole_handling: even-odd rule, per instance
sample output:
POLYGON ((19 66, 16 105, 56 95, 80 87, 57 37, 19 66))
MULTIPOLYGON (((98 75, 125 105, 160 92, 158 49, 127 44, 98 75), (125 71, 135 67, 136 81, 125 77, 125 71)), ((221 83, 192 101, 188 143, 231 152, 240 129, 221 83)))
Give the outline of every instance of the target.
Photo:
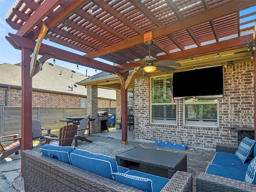
MULTIPOLYGON (((220 144, 216 145, 216 152, 235 154, 237 145, 220 144)), ((254 149, 255 152, 256 149, 254 149)), ((255 154, 254 154, 255 156, 255 154)), ((231 164, 230 160, 230 164, 231 164)), ((197 192, 256 192, 256 184, 250 184, 240 180, 234 180, 214 174, 200 172, 196 178, 197 192)))

